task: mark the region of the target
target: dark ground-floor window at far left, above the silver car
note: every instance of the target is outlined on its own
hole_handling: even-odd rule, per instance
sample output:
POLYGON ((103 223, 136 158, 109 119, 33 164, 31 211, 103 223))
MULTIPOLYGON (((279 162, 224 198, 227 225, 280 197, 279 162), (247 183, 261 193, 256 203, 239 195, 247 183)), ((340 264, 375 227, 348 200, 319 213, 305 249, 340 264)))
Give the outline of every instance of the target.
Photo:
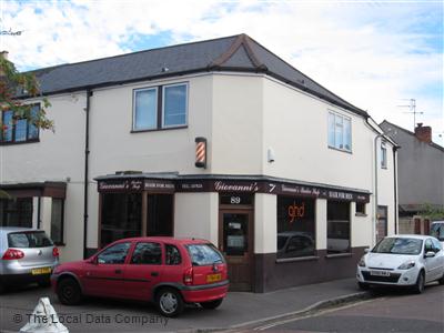
POLYGON ((1 199, 0 225, 32 228, 32 198, 1 199))

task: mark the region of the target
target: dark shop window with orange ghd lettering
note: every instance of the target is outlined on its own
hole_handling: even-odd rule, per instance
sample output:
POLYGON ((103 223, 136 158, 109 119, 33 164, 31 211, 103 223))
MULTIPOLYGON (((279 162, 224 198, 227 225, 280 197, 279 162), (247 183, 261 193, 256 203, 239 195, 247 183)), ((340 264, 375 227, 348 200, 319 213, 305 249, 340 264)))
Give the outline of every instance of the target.
POLYGON ((315 253, 314 200, 278 196, 278 259, 315 253))

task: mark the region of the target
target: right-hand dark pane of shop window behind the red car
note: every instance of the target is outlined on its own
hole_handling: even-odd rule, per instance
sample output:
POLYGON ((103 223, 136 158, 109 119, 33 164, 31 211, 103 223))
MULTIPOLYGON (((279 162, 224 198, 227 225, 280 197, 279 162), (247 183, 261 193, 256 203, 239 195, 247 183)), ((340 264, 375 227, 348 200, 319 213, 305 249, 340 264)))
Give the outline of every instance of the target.
POLYGON ((149 236, 173 235, 173 200, 171 194, 148 194, 149 236))

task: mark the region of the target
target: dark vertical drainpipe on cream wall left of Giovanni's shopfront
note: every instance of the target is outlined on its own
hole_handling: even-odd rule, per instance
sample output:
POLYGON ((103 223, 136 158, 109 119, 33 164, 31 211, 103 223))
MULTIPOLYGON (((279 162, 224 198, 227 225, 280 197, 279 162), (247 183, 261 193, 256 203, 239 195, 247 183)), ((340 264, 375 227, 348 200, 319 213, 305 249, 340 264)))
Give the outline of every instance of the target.
POLYGON ((90 98, 92 91, 87 89, 85 127, 84 127, 84 189, 83 189, 83 259, 87 259, 88 240, 88 186, 89 186, 89 157, 90 157, 90 98))

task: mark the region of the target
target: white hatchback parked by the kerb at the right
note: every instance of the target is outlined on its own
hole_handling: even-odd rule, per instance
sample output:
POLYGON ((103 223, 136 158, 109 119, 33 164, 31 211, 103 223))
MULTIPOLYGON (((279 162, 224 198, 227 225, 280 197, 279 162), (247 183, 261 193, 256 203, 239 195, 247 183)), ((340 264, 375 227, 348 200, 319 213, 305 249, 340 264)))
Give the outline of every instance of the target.
POLYGON ((424 284, 437 280, 444 284, 444 251, 430 235, 384 238, 364 254, 357 264, 357 284, 411 286, 422 293, 424 284))

